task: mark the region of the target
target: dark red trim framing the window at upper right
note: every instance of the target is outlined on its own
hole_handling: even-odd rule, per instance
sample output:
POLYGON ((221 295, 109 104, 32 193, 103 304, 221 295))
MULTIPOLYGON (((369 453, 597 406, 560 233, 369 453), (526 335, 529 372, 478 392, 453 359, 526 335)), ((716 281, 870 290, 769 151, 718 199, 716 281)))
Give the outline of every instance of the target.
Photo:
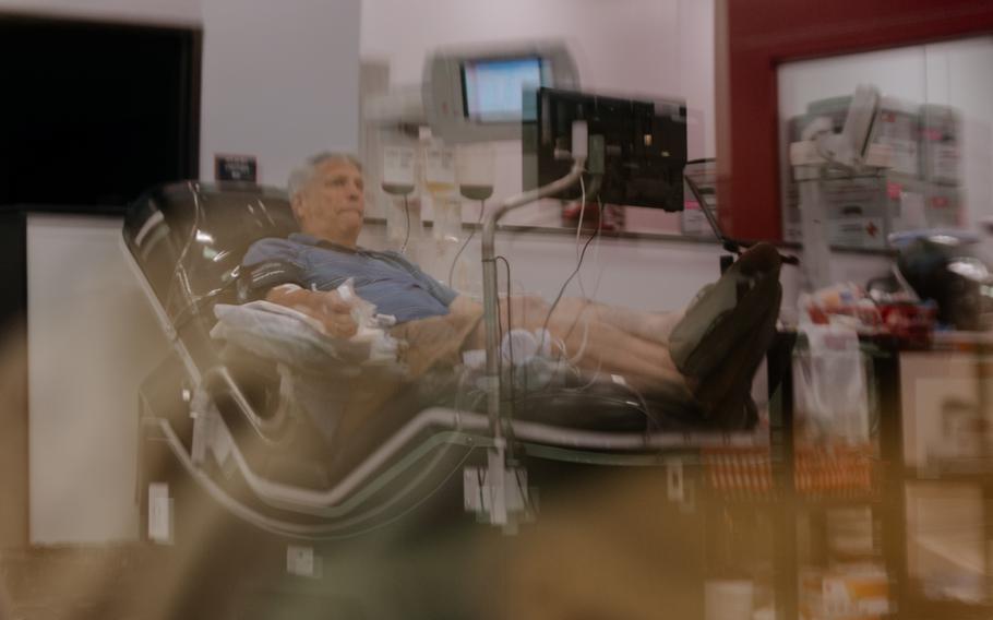
POLYGON ((781 239, 777 65, 991 34, 993 0, 718 0, 716 33, 721 225, 781 239))

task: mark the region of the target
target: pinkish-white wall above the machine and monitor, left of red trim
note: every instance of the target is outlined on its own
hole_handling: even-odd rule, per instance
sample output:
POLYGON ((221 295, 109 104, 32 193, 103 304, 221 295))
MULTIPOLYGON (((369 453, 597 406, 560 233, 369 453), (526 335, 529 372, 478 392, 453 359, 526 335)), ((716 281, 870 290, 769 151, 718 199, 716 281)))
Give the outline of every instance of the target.
POLYGON ((714 1, 363 0, 361 55, 404 85, 439 47, 564 40, 585 90, 685 99, 690 157, 714 156, 714 1))

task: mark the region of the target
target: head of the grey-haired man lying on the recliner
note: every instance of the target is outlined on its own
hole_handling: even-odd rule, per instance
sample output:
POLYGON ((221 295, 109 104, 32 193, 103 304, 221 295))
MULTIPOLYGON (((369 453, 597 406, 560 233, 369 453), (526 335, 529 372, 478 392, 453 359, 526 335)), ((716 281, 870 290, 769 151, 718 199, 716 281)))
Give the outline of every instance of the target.
POLYGON ((342 159, 318 165, 316 174, 294 198, 300 229, 315 237, 355 245, 366 211, 362 172, 342 159))

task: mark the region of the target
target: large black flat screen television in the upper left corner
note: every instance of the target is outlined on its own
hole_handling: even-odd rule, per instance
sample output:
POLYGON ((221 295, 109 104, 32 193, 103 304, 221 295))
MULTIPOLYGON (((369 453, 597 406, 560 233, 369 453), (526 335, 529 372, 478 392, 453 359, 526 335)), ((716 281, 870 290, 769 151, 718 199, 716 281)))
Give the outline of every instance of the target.
POLYGON ((0 205, 122 210, 199 172, 198 28, 0 17, 0 205))

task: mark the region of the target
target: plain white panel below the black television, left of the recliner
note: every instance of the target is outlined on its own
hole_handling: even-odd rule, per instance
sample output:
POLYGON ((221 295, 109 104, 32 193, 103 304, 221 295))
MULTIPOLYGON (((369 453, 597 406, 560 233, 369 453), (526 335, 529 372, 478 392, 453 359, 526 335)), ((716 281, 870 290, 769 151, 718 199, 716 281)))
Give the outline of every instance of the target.
POLYGON ((33 544, 137 534, 137 385, 167 342, 123 261, 121 224, 28 216, 33 544))

